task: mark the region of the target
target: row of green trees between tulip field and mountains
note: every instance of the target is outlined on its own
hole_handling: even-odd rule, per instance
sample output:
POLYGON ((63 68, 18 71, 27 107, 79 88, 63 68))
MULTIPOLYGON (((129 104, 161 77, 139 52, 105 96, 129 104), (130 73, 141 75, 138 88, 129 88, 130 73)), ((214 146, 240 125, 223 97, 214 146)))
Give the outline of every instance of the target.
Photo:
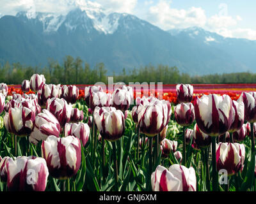
POLYGON ((108 77, 113 77, 114 82, 163 82, 163 84, 235 84, 235 83, 255 83, 256 73, 223 73, 213 75, 189 75, 180 73, 175 66, 141 66, 140 68, 125 69, 118 73, 108 73, 103 63, 98 63, 91 67, 83 62, 80 57, 67 55, 60 64, 53 59, 49 59, 47 66, 24 66, 19 62, 10 64, 0 64, 0 83, 21 84, 24 79, 30 79, 34 73, 45 76, 47 84, 95 84, 104 82, 108 84, 108 77))

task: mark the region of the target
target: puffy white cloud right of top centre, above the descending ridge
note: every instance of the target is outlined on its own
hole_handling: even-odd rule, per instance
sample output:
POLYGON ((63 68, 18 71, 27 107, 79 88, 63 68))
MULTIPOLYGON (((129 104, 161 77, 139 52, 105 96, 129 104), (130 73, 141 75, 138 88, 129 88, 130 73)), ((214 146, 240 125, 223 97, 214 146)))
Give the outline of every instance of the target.
POLYGON ((191 7, 188 10, 171 8, 171 1, 159 0, 150 6, 148 20, 164 30, 203 26, 206 22, 205 11, 202 8, 191 7))

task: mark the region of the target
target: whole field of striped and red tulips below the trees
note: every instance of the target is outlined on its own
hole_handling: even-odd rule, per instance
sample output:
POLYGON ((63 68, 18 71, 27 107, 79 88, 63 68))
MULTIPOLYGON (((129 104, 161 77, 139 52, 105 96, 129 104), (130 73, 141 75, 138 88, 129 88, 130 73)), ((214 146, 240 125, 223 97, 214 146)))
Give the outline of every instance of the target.
POLYGON ((256 84, 0 84, 0 191, 256 191, 256 84), (157 90, 157 91, 155 91, 157 90))

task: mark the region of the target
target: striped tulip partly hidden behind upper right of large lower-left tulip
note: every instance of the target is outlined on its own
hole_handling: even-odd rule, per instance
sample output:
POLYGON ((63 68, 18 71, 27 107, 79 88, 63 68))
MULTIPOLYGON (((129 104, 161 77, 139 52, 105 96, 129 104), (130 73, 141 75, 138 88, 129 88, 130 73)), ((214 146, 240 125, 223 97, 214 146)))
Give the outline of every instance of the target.
POLYGON ((65 124, 65 136, 73 135, 81 140, 83 147, 89 140, 90 137, 90 128, 88 124, 79 122, 76 123, 66 123, 65 124))

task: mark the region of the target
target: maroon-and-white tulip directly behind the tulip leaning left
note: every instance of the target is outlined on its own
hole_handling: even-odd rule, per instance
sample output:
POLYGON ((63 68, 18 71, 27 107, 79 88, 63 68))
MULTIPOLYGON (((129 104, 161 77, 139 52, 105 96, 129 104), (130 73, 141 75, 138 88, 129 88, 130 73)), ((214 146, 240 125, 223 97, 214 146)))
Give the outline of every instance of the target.
POLYGON ((51 98, 46 101, 46 109, 59 120, 62 127, 70 121, 72 105, 63 98, 51 98))

